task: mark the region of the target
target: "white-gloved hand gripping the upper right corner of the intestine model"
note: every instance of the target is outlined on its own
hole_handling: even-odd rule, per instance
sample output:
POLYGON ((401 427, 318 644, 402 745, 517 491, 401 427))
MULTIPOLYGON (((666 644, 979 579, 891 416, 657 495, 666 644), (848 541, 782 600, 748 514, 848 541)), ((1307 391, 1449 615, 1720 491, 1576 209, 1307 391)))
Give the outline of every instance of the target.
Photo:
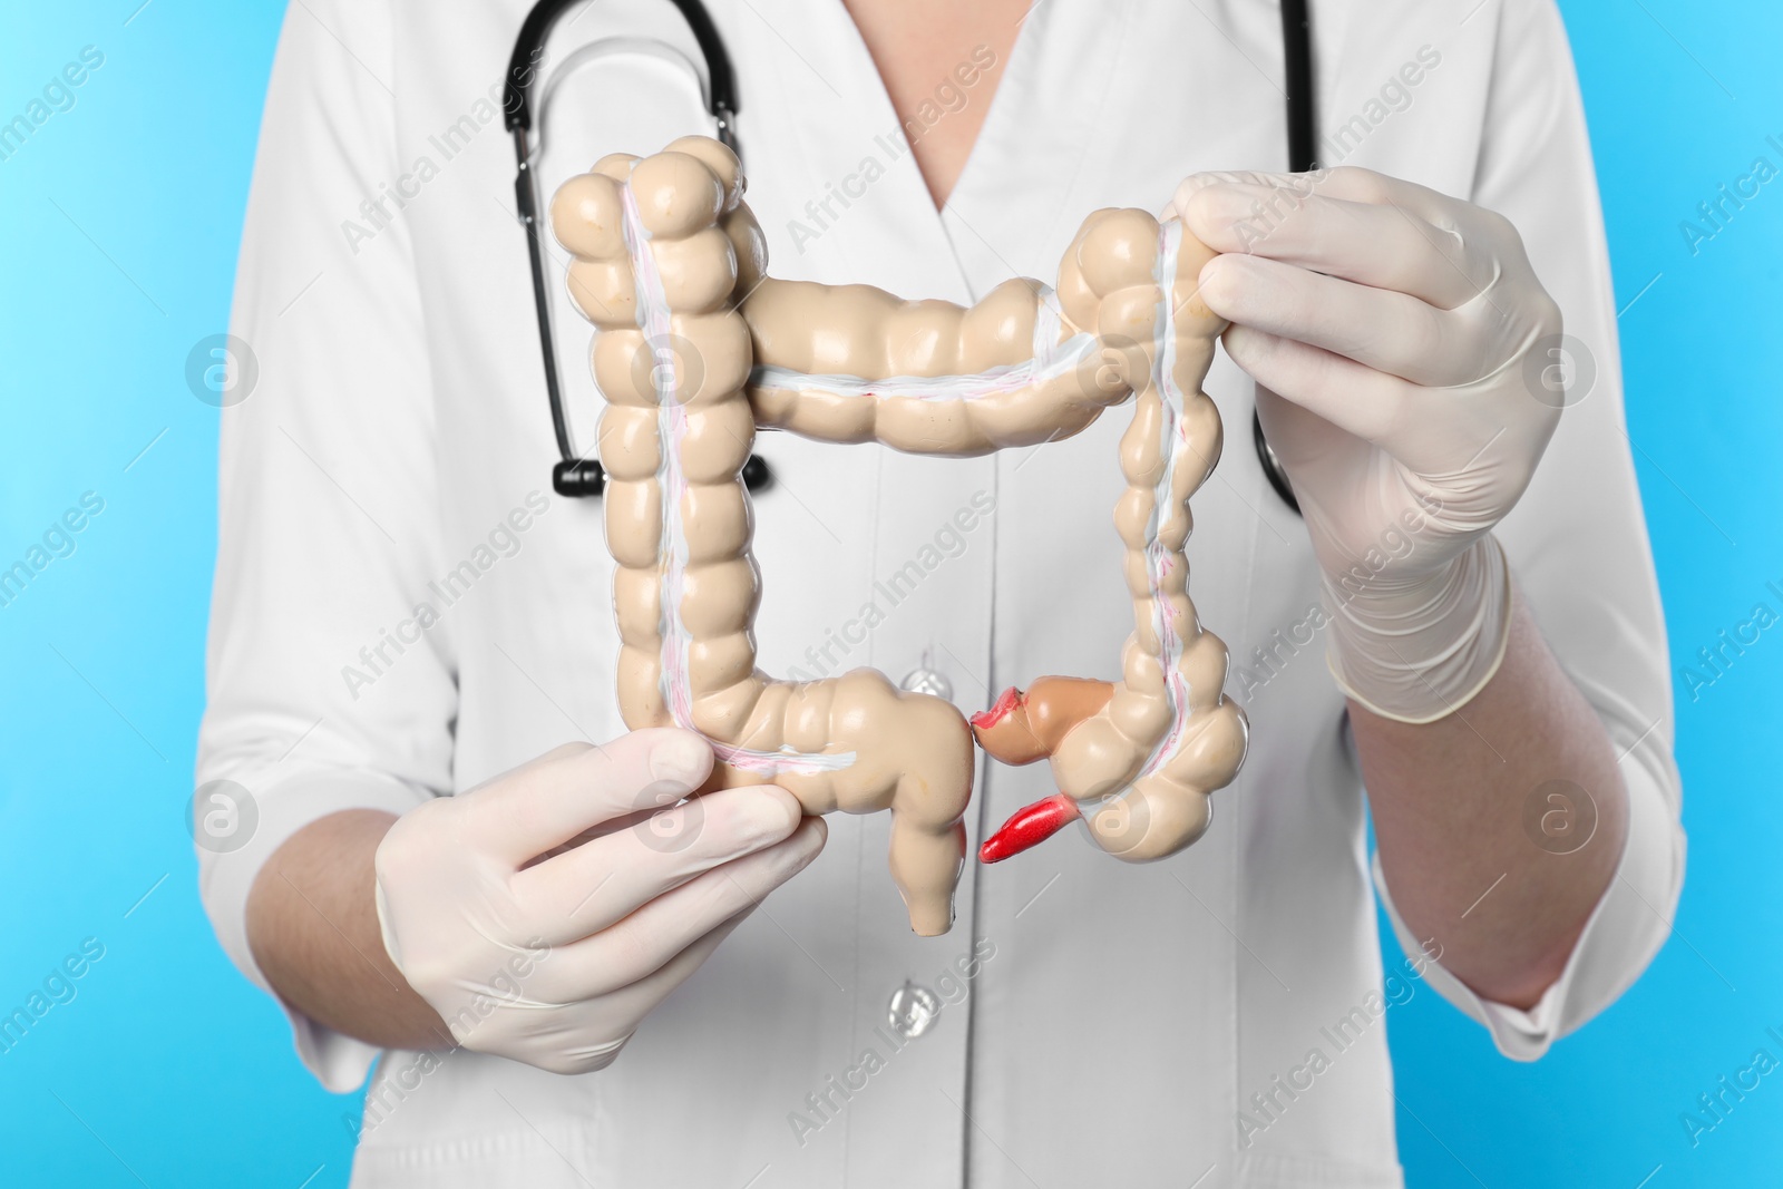
POLYGON ((1171 209, 1225 253, 1200 296, 1232 321, 1227 353, 1305 513, 1339 686, 1401 722, 1455 711, 1503 660, 1491 531, 1564 405, 1560 308, 1523 241, 1355 168, 1200 173, 1171 209))

